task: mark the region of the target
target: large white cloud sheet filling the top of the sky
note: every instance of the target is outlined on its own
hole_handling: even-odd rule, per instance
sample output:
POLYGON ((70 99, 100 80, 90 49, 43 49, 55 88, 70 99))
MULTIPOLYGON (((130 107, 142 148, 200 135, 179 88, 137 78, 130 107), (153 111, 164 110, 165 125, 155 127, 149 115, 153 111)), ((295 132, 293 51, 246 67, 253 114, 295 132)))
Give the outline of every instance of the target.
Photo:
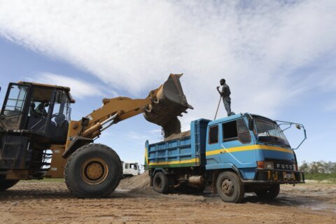
POLYGON ((275 116, 309 89, 295 71, 336 45, 336 1, 285 2, 0 1, 0 35, 134 95, 186 73, 183 124, 214 118, 220 78, 233 111, 275 116))

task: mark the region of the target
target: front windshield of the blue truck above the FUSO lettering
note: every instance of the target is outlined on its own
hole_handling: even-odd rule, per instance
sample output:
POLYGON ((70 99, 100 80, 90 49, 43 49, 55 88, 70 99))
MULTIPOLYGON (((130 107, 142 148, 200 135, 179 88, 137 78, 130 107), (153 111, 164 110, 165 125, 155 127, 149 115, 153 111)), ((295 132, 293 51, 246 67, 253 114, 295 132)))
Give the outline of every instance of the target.
POLYGON ((276 123, 257 118, 255 119, 255 127, 258 141, 290 147, 285 134, 276 123))

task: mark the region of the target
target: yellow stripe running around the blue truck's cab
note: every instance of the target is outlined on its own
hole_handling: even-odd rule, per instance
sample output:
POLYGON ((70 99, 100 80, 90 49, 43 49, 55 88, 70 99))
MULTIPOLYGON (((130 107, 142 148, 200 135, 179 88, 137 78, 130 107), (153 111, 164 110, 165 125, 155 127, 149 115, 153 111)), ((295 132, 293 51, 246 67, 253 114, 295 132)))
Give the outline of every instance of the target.
POLYGON ((251 146, 239 146, 234 148, 221 148, 214 151, 208 151, 207 153, 205 153, 205 155, 216 155, 219 153, 235 153, 241 151, 259 150, 259 149, 293 154, 293 151, 288 148, 281 148, 276 146, 264 146, 264 145, 251 145, 251 146))

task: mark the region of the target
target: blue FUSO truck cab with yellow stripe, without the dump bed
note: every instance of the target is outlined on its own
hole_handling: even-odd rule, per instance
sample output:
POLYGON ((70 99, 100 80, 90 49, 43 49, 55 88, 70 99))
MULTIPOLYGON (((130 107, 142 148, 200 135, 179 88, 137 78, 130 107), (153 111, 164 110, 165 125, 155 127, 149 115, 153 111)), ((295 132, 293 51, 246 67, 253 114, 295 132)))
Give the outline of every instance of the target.
POLYGON ((295 151, 274 120, 235 115, 209 122, 207 133, 206 169, 235 169, 246 184, 304 181, 295 151))

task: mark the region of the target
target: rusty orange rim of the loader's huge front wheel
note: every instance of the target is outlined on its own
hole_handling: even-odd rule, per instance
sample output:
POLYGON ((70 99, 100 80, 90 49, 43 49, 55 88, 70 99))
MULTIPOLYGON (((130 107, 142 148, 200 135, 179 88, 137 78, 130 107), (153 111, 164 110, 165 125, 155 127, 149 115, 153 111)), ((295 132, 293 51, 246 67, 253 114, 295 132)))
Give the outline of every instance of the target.
POLYGON ((82 166, 83 181, 90 185, 98 185, 106 180, 109 166, 101 158, 90 158, 82 166))

